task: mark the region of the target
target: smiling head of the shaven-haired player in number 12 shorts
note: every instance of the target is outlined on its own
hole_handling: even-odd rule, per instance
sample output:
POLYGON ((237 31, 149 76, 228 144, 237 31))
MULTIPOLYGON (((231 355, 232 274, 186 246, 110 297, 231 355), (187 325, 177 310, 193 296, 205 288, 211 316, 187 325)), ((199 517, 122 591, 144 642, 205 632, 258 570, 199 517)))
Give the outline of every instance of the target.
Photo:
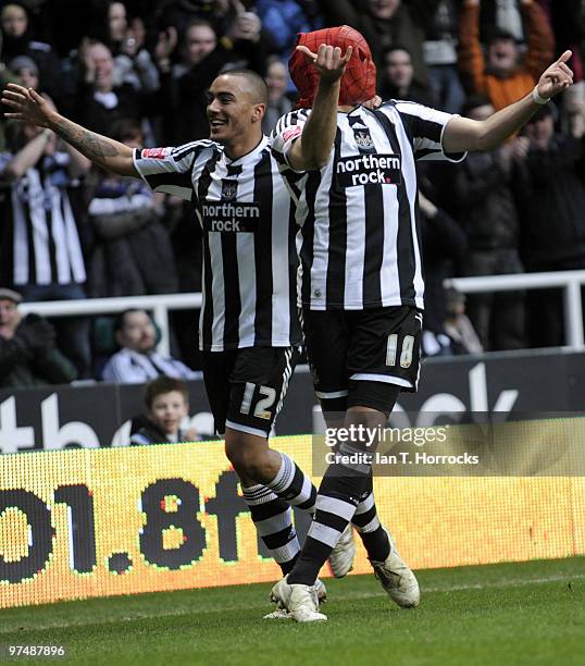
POLYGON ((265 111, 256 86, 246 76, 222 74, 209 89, 210 138, 225 146, 260 127, 265 111))

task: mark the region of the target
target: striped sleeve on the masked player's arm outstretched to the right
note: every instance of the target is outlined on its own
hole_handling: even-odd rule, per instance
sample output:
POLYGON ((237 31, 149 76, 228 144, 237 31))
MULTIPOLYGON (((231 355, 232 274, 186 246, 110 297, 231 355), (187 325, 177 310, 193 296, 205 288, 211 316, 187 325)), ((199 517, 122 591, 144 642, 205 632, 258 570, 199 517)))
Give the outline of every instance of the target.
POLYGON ((448 153, 443 148, 445 127, 453 118, 459 118, 458 115, 409 101, 396 101, 395 106, 412 137, 416 160, 461 162, 465 159, 466 152, 448 153))

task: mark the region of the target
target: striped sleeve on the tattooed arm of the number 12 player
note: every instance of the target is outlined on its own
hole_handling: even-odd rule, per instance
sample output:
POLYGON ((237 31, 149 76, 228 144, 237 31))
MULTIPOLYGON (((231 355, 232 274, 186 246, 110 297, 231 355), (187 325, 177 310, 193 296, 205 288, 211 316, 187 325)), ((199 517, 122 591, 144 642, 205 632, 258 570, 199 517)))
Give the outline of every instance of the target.
POLYGON ((194 194, 194 165, 199 155, 213 148, 209 140, 191 141, 176 148, 134 150, 134 165, 153 192, 190 200, 194 194))

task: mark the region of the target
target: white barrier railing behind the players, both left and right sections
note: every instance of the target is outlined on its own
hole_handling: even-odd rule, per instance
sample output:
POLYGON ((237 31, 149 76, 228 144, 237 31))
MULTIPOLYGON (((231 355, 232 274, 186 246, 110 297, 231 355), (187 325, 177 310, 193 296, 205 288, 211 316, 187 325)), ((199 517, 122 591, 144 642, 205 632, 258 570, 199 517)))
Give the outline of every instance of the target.
MULTIPOLYGON (((562 288, 564 294, 567 346, 575 350, 585 349, 583 334, 583 301, 581 298, 581 286, 584 284, 585 271, 452 278, 445 282, 446 286, 453 286, 463 294, 555 287, 562 288)), ((200 309, 201 303, 202 295, 200 293, 191 293, 23 303, 21 309, 24 313, 36 312, 45 317, 72 317, 111 314, 121 312, 127 308, 144 308, 145 310, 152 311, 154 320, 161 330, 159 350, 161 354, 169 354, 169 311, 200 309)))

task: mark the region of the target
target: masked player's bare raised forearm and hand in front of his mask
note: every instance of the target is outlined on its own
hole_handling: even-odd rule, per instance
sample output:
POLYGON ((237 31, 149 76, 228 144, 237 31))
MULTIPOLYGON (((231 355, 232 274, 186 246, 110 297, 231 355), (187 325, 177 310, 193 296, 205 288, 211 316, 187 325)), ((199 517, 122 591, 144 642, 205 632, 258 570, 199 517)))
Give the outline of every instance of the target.
POLYGON ((319 86, 313 110, 302 134, 292 144, 288 153, 288 163, 295 171, 321 169, 329 160, 331 149, 337 131, 337 103, 339 101, 339 79, 351 58, 351 47, 341 57, 339 47, 333 48, 322 44, 319 53, 313 53, 304 46, 298 46, 307 59, 320 73, 319 86))

